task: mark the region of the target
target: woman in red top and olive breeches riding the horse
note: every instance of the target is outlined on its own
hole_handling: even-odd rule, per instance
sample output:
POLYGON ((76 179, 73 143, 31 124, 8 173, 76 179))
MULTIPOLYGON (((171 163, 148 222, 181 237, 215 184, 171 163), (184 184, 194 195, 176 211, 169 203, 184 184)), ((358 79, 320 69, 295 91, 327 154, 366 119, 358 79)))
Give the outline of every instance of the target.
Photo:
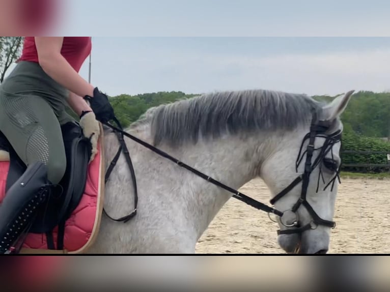
POLYGON ((15 69, 0 85, 0 131, 27 166, 0 206, 0 245, 6 225, 18 216, 15 206, 27 203, 38 189, 50 188, 64 176, 61 125, 74 122, 67 107, 80 117, 83 135, 91 141, 91 161, 96 155, 98 121, 112 119, 114 111, 107 96, 78 74, 91 48, 90 37, 25 37, 15 69), (45 174, 37 170, 42 169, 37 164, 45 174), (29 187, 30 181, 34 183, 29 187))

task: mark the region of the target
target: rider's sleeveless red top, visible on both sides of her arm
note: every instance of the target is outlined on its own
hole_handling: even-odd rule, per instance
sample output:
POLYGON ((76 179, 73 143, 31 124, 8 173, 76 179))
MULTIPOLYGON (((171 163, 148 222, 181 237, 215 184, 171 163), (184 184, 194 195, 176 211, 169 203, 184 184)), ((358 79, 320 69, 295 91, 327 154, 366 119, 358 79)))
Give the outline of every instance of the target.
MULTIPOLYGON (((69 62, 70 66, 79 72, 82 63, 86 61, 91 53, 91 49, 92 43, 90 37, 64 37, 61 54, 69 62)), ((38 52, 34 37, 24 38, 23 51, 19 61, 38 63, 38 52)))

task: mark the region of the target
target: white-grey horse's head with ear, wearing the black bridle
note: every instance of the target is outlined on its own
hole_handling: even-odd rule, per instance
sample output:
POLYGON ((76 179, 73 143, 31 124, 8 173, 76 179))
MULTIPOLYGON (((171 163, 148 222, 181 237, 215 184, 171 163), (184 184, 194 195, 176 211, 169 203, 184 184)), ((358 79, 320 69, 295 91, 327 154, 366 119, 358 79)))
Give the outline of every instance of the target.
MULTIPOLYGON (((340 115, 353 91, 313 110, 311 122, 284 133, 261 165, 272 192, 278 243, 288 253, 326 253, 338 191, 340 115)), ((273 218, 273 216, 272 216, 273 218)))

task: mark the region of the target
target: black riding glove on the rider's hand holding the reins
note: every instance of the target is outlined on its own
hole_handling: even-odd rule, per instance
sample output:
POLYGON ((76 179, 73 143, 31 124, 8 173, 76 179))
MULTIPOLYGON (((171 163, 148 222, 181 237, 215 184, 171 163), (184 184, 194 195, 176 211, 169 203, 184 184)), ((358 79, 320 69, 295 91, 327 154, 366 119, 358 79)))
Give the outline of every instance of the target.
POLYGON ((108 101, 108 97, 101 93, 98 87, 94 89, 94 96, 85 96, 85 100, 88 100, 93 112, 95 113, 96 120, 105 123, 115 118, 114 108, 108 101))

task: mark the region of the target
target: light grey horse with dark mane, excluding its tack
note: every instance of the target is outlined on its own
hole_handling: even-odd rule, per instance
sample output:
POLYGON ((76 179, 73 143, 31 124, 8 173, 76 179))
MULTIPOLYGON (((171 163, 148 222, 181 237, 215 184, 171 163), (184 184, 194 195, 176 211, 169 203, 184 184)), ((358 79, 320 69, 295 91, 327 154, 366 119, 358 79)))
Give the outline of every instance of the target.
MULTIPOLYGON (((310 132, 312 109, 319 120, 329 122, 328 133, 342 131, 340 115, 352 93, 323 104, 306 95, 275 91, 216 92, 151 108, 127 132, 234 189, 260 177, 272 198, 304 171, 304 163, 296 169, 296 159, 310 132)), ((108 166, 119 142, 108 127, 104 137, 108 166)), ((125 140, 136 175, 137 215, 127 223, 102 215, 99 235, 89 253, 194 253, 202 233, 232 194, 133 140, 125 140)), ((317 138, 315 149, 324 141, 317 138)), ((338 183, 324 189, 341 163, 340 147, 337 142, 326 154, 337 167, 320 163, 307 188, 307 201, 325 220, 331 220, 335 210, 338 183)), ((313 159, 316 155, 315 151, 313 159)), ((274 208, 291 210, 301 185, 274 208)), ((106 183, 104 208, 115 218, 134 208, 132 180, 123 154, 106 183)), ((296 216, 301 224, 312 219, 303 207, 296 216)), ((286 227, 281 220, 278 225, 281 230, 295 228, 286 227)), ((323 253, 329 249, 330 232, 330 227, 319 225, 300 234, 279 235, 277 240, 288 253, 323 253)))

